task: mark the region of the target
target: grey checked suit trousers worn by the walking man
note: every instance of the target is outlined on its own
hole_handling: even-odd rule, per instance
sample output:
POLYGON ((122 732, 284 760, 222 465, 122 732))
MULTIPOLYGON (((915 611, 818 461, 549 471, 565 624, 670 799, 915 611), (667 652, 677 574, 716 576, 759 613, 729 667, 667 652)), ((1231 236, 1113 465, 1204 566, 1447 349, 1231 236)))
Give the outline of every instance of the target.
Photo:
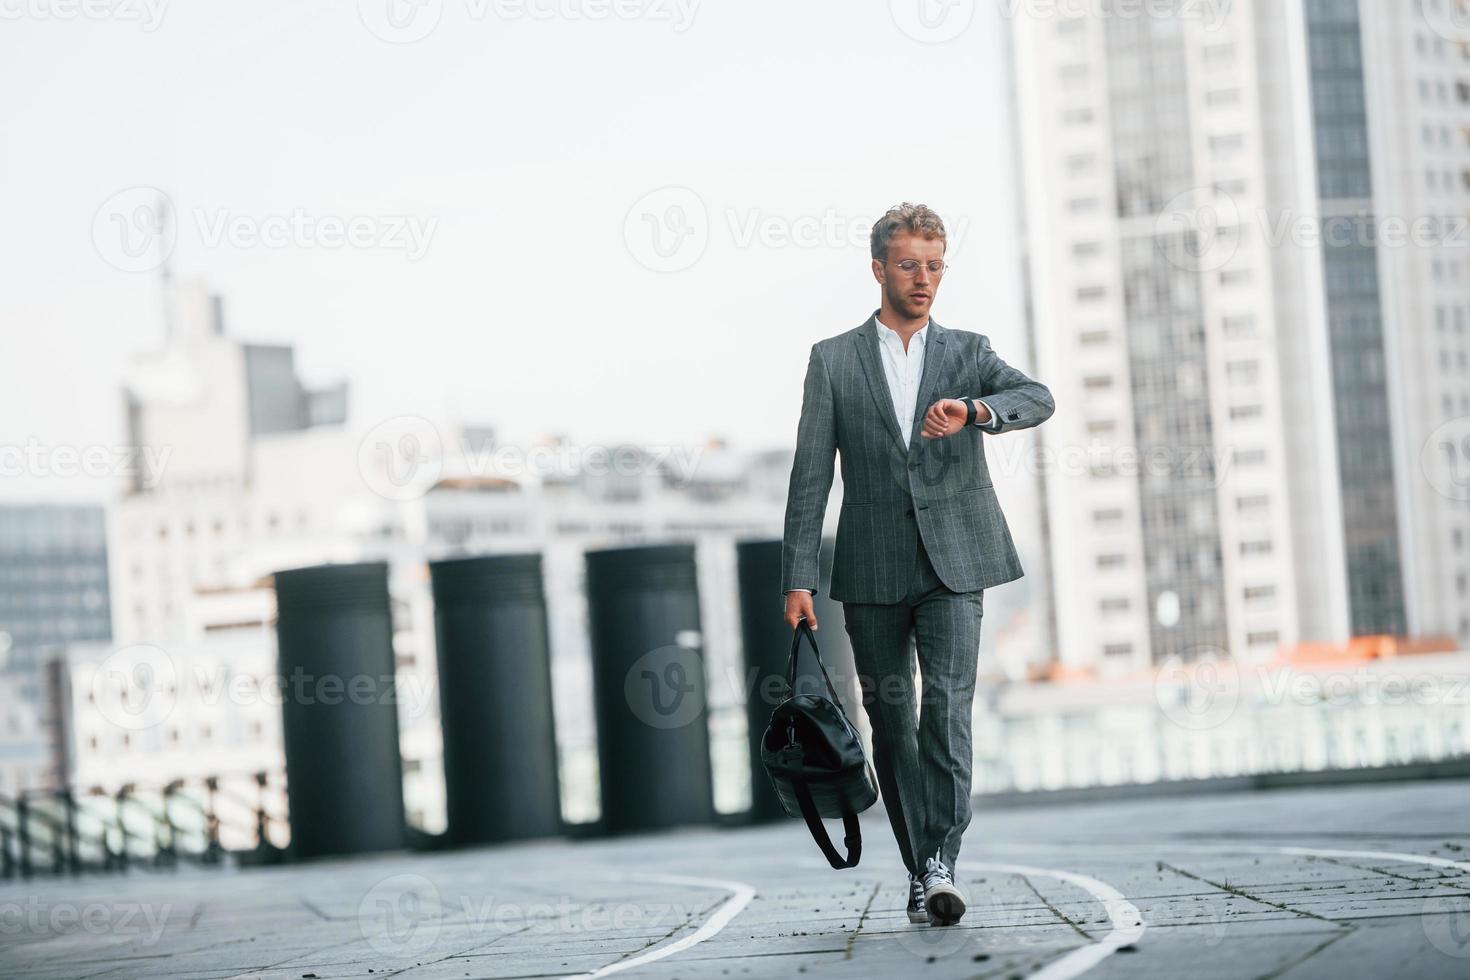
POLYGON ((983 597, 983 589, 950 591, 920 539, 901 601, 842 604, 873 729, 878 786, 904 867, 914 874, 935 854, 953 870, 970 824, 970 708, 983 597))

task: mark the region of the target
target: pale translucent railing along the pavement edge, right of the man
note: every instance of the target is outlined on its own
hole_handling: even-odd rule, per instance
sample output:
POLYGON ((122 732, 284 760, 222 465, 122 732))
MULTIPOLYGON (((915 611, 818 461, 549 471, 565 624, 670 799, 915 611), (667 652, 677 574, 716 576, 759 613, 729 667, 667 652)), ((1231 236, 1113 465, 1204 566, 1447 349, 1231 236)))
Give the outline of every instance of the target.
POLYGON ((1470 758, 1470 657, 1226 664, 1204 677, 1014 685, 978 711, 975 792, 1373 771, 1470 758))

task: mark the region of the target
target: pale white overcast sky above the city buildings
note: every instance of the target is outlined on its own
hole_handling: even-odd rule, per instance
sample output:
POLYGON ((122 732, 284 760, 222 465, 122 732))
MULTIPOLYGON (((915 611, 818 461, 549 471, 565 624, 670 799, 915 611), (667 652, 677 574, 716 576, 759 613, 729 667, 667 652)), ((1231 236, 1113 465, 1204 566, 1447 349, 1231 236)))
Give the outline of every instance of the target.
POLYGON ((0 447, 121 442, 128 356, 162 339, 116 225, 140 187, 173 204, 175 273, 347 378, 362 428, 791 444, 900 200, 950 225, 935 319, 1025 360, 997 4, 97 1, 4 4, 0 447))

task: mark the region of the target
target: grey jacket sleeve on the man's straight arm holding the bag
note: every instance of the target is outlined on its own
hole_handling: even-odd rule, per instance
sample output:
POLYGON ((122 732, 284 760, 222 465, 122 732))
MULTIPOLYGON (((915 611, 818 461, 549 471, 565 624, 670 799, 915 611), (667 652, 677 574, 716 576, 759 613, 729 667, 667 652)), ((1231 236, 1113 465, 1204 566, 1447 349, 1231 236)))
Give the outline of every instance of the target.
POLYGON ((822 548, 822 519, 832 492, 836 458, 836 414, 832 407, 832 378, 817 345, 811 345, 807 381, 797 423, 797 455, 786 488, 786 526, 781 541, 781 592, 810 589, 817 594, 817 555, 822 548))

